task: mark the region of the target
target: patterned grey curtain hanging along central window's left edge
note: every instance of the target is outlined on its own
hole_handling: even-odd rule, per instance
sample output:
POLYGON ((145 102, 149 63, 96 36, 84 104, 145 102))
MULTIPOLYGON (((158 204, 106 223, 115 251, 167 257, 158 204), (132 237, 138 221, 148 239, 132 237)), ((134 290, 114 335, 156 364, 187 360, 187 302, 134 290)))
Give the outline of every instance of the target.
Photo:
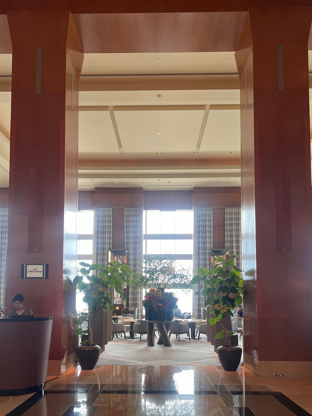
MULTIPOLYGON (((124 210, 125 248, 128 251, 128 264, 132 272, 139 272, 139 262, 143 258, 143 208, 124 210)), ((141 318, 142 289, 129 287, 129 306, 138 308, 141 318)))

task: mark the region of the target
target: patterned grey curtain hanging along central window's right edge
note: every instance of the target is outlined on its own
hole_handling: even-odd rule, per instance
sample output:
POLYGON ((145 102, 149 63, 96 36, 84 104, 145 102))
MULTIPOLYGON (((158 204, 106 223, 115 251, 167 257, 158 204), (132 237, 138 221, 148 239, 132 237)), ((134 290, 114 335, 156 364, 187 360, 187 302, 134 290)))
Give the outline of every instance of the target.
MULTIPOLYGON (((212 247, 212 208, 194 208, 194 276, 199 267, 209 270, 210 250, 212 247)), ((200 283, 198 284, 198 286, 200 283)), ((195 295, 193 290, 193 316, 201 318, 201 308, 206 307, 203 295, 195 295)))

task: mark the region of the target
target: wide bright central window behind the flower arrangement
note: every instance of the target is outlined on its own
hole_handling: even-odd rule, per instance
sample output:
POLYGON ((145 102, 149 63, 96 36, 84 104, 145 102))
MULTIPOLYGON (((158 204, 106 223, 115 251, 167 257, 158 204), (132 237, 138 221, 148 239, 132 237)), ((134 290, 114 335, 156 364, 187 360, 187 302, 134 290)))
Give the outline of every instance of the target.
MULTIPOLYGON (((179 267, 193 270, 193 211, 144 211, 143 258, 172 254, 179 267)), ((192 312, 192 290, 171 290, 178 297, 181 312, 192 312)))

